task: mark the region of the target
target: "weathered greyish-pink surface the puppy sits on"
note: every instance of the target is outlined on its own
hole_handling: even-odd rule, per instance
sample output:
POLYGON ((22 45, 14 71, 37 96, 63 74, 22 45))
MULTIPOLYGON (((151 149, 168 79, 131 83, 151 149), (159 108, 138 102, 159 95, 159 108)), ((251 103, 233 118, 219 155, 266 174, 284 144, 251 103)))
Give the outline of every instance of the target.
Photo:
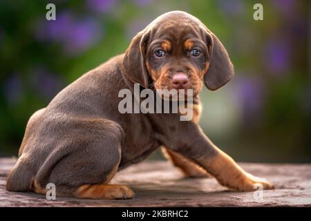
POLYGON ((256 200, 254 192, 229 191, 211 177, 183 178, 162 161, 142 162, 117 173, 113 183, 130 186, 136 193, 133 200, 46 200, 45 195, 6 191, 6 175, 14 164, 14 159, 0 159, 0 206, 311 206, 311 164, 241 163, 247 172, 276 185, 263 191, 263 200, 256 200))

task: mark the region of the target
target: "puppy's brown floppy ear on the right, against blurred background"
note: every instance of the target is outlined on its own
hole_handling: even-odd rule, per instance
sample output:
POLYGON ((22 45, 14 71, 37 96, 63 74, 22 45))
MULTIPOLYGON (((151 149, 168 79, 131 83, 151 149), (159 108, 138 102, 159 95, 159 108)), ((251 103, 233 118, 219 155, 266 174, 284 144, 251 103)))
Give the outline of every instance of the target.
POLYGON ((223 44, 211 32, 207 33, 207 46, 210 59, 204 83, 209 90, 217 90, 234 77, 234 66, 223 44))

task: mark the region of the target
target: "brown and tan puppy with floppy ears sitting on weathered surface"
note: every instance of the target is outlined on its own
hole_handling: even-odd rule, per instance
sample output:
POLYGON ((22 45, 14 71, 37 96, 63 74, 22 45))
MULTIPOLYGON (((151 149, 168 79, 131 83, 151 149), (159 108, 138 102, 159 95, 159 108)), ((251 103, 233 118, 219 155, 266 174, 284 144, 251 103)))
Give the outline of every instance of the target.
POLYGON ((62 90, 28 122, 8 191, 93 199, 133 198, 126 186, 112 185, 115 173, 164 146, 173 163, 189 176, 214 175, 241 191, 273 186, 249 175, 220 151, 198 126, 202 79, 216 90, 234 76, 227 51, 203 23, 185 12, 158 17, 133 38, 124 55, 91 70, 62 90), (194 90, 194 117, 177 113, 121 114, 123 88, 194 90))

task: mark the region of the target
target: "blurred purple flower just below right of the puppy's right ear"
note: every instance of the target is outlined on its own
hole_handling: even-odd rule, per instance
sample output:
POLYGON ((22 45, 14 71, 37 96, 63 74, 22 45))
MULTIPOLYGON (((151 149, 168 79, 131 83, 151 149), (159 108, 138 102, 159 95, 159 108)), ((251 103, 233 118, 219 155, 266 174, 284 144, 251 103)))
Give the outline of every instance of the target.
POLYGON ((236 95, 243 111, 245 123, 257 124, 262 117, 265 100, 265 86, 256 77, 240 77, 237 79, 236 95))

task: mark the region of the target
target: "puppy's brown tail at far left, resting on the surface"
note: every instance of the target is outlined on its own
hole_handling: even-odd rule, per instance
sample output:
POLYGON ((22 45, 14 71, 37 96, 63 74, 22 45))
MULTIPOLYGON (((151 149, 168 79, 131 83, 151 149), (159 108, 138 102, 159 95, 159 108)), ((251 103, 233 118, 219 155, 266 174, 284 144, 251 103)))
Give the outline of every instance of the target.
POLYGON ((30 171, 28 164, 23 162, 23 155, 21 155, 8 175, 6 189, 15 192, 28 192, 31 190, 33 177, 35 174, 30 171))

